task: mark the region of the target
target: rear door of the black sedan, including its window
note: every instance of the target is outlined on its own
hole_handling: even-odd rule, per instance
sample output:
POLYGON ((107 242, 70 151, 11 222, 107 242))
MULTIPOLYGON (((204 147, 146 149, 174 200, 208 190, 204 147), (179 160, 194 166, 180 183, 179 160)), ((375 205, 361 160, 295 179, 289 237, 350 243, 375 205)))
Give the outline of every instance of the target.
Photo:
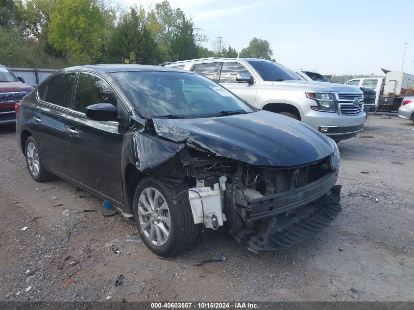
POLYGON ((38 100, 31 106, 33 136, 44 164, 63 175, 68 173, 63 143, 65 117, 72 101, 75 79, 76 72, 51 78, 38 89, 38 100))

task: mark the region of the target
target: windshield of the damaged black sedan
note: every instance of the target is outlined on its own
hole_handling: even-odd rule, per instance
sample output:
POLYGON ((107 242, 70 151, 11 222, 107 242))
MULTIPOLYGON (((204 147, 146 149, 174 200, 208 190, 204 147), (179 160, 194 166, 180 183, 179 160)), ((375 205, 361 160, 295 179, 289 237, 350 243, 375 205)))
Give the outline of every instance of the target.
POLYGON ((134 71, 112 75, 146 118, 201 118, 253 112, 225 88, 198 74, 134 71))

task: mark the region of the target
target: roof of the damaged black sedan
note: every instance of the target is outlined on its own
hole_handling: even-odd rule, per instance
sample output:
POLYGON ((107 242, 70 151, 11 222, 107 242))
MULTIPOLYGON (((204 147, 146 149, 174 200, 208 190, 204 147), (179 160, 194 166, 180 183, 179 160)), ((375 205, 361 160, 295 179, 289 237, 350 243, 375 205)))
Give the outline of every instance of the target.
POLYGON ((162 66, 151 66, 151 65, 131 65, 131 64, 108 64, 108 65, 85 65, 85 66, 74 66, 63 69, 66 70, 90 70, 97 72, 126 72, 126 71, 156 71, 156 72, 177 72, 182 71, 189 73, 189 71, 179 70, 174 68, 166 68, 162 66))

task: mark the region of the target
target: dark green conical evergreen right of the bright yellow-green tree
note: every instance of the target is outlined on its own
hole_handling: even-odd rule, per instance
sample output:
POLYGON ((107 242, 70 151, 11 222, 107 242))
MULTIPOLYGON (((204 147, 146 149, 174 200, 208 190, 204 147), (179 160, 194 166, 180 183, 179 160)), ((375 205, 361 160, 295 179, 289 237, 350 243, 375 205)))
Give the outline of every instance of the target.
POLYGON ((157 45, 141 16, 136 6, 122 15, 108 42, 108 55, 128 57, 133 52, 137 63, 153 64, 158 58, 157 45))

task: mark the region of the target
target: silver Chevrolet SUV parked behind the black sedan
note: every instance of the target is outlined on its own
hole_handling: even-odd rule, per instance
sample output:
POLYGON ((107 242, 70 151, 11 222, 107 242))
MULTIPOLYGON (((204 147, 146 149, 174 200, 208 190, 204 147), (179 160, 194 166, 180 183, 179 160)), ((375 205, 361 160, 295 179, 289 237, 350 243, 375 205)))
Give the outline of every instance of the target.
POLYGON ((281 64, 255 58, 203 58, 166 67, 207 76, 249 104, 302 120, 336 142, 364 127, 363 93, 356 86, 304 81, 281 64))

